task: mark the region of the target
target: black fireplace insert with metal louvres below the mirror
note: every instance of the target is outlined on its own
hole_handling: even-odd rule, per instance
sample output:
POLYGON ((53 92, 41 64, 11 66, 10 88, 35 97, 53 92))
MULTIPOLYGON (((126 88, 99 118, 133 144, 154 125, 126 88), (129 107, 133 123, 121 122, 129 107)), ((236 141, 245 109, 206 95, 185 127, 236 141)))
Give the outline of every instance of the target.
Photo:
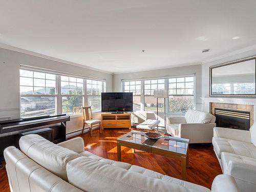
POLYGON ((216 124, 220 127, 246 130, 250 128, 250 112, 215 108, 216 124))

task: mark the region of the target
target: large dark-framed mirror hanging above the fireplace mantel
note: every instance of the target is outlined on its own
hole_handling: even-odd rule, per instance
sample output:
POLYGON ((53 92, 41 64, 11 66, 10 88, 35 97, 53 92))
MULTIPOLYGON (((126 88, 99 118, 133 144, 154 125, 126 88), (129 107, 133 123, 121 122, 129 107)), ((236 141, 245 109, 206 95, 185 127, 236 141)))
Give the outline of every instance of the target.
POLYGON ((256 56, 210 67, 211 97, 255 97, 256 56))

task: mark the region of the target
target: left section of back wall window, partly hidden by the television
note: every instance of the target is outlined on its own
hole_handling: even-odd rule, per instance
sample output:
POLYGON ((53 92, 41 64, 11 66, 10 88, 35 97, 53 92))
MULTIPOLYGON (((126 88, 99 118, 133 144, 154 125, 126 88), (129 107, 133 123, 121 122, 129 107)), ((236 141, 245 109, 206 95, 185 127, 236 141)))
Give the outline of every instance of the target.
POLYGON ((125 81, 124 92, 133 92, 133 111, 140 111, 141 81, 125 81))

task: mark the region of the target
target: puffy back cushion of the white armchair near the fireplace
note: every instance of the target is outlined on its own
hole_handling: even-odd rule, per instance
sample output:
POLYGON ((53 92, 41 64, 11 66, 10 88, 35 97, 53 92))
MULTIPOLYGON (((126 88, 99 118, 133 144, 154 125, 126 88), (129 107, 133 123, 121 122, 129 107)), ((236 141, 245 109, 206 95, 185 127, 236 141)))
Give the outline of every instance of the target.
POLYGON ((211 122, 213 115, 208 112, 187 110, 185 114, 187 123, 209 123, 211 122))

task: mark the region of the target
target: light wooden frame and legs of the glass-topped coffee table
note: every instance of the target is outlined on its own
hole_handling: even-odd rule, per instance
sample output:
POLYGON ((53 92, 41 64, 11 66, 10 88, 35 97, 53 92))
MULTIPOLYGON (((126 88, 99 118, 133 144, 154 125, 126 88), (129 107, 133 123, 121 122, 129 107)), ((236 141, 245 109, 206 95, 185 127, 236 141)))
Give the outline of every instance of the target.
POLYGON ((117 139, 117 160, 118 161, 121 161, 121 146, 132 148, 133 152, 134 152, 134 150, 140 150, 140 151, 144 151, 144 152, 148 152, 148 153, 152 153, 152 154, 157 154, 157 155, 181 160, 181 179, 184 181, 186 180, 186 167, 189 166, 189 164, 188 164, 188 148, 189 148, 189 146, 187 146, 187 153, 181 154, 178 152, 163 150, 161 148, 146 146, 146 145, 142 145, 142 144, 138 144, 138 143, 132 143, 129 141, 123 141, 123 140, 117 139))

